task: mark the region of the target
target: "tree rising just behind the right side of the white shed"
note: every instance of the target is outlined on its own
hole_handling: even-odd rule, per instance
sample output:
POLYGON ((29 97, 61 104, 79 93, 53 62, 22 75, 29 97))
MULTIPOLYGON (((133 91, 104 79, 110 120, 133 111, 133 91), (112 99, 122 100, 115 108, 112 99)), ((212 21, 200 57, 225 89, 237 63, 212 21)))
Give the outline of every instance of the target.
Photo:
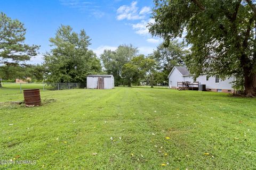
POLYGON ((115 86, 124 84, 124 79, 121 75, 122 68, 137 53, 138 49, 132 45, 120 45, 115 51, 104 50, 103 54, 100 55, 106 72, 114 75, 115 86))

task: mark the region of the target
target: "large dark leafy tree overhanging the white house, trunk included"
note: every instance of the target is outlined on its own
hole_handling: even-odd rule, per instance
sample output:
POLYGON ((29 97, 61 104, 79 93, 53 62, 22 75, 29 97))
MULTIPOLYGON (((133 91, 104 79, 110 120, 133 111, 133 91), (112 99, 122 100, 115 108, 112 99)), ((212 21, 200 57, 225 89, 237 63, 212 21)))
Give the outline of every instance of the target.
POLYGON ((155 0, 153 18, 150 33, 167 43, 187 31, 186 65, 195 77, 242 77, 245 94, 256 95, 255 1, 155 0))

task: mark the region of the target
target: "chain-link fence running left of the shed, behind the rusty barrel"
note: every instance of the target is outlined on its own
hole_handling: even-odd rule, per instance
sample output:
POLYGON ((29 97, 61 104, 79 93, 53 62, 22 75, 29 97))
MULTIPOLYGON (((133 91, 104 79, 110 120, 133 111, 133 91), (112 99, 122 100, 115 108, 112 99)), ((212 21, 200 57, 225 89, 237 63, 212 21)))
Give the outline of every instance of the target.
POLYGON ((48 90, 68 90, 82 88, 80 83, 1 83, 0 90, 11 91, 12 93, 22 93, 25 89, 48 90))

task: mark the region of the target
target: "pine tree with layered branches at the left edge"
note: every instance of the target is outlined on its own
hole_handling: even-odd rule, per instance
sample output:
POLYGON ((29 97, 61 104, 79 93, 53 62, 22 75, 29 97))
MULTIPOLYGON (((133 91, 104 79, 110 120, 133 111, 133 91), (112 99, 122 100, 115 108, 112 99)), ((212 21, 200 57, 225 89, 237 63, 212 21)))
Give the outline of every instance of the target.
MULTIPOLYGON (((18 20, 12 20, 6 14, 0 14, 0 64, 19 66, 21 62, 37 55, 39 46, 24 43, 26 29, 18 20)), ((14 70, 12 70, 14 71, 14 70)), ((1 79, 0 79, 0 87, 1 79)))

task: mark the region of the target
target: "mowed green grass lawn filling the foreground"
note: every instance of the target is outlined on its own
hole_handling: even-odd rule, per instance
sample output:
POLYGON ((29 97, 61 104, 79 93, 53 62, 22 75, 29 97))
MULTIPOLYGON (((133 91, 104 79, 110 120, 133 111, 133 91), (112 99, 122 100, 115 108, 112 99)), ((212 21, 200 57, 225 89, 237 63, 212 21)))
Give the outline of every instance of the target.
MULTIPOLYGON (((4 90, 2 102, 23 99, 4 90)), ((0 160, 36 160, 0 169, 256 168, 254 98, 127 87, 41 98, 41 107, 0 104, 0 160)))

